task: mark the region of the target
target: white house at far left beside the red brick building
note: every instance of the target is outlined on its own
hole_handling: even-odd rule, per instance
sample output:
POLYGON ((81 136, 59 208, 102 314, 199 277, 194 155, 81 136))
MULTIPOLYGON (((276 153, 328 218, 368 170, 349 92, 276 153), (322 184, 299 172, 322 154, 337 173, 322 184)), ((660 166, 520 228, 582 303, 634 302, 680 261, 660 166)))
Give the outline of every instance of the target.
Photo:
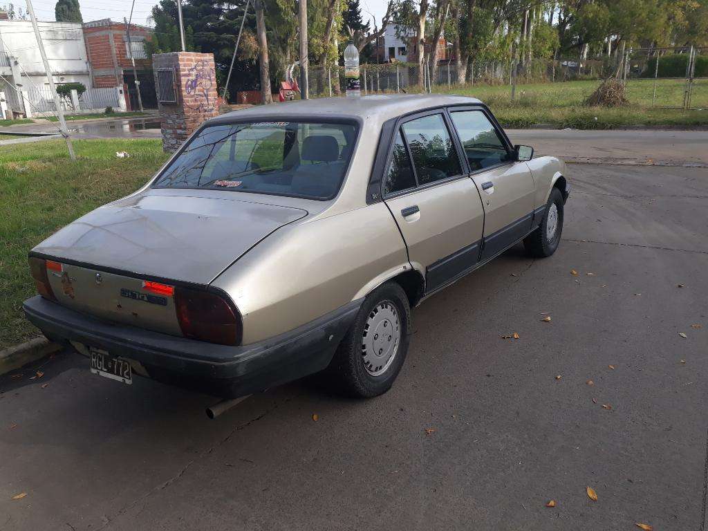
MULTIPOLYGON (((81 24, 40 22, 38 25, 54 82, 91 86, 81 24)), ((52 96, 30 21, 0 20, 0 76, 0 91, 14 114, 51 112, 47 105, 52 96), (33 109, 26 108, 27 98, 33 102, 33 109)))

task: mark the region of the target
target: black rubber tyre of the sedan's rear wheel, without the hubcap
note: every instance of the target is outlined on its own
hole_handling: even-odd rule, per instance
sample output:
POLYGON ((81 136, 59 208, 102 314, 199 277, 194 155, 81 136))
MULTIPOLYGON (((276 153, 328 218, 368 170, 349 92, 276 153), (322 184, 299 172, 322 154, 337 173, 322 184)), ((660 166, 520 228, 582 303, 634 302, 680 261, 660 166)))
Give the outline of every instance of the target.
MULTIPOLYGON (((385 319, 384 319, 385 321, 385 319)), ((390 322, 390 321, 389 321, 390 322)), ((382 321, 379 326, 385 326, 382 321)), ((373 336, 370 336, 373 337, 373 336)), ((396 282, 387 282, 377 287, 366 297, 354 323, 339 344, 331 364, 325 372, 330 379, 329 384, 348 396, 355 398, 372 398, 384 394, 394 383, 396 376, 403 367, 411 341, 411 307, 406 292, 396 282), (365 363, 365 333, 369 333, 367 322, 375 316, 382 305, 391 304, 396 309, 400 331, 399 342, 388 366, 378 375, 372 375, 365 363), (335 385, 332 385, 335 384, 335 385)), ((369 355, 369 358, 372 356, 369 355)), ((383 367, 383 365, 382 365, 383 367)), ((375 369, 372 367, 370 369, 375 369)))

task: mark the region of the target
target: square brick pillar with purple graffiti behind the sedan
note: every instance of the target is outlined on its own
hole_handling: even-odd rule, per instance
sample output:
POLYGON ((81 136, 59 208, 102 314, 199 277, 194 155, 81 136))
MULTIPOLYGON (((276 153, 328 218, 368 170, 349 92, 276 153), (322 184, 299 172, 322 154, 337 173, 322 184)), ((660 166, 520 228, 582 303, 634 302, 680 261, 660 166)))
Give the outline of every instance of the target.
POLYGON ((198 52, 154 54, 152 68, 162 129, 162 149, 175 152, 207 118, 219 115, 214 55, 198 52), (159 69, 174 69, 176 103, 161 101, 159 69))

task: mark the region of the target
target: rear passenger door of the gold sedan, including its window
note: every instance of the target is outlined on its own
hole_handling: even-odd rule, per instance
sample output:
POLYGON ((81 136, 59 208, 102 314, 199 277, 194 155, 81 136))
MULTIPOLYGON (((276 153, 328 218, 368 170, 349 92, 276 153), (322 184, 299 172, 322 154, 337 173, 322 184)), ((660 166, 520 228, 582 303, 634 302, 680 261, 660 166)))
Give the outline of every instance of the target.
POLYGON ((414 115, 397 125, 382 193, 409 260, 426 271, 426 292, 474 266, 484 209, 444 110, 414 115))

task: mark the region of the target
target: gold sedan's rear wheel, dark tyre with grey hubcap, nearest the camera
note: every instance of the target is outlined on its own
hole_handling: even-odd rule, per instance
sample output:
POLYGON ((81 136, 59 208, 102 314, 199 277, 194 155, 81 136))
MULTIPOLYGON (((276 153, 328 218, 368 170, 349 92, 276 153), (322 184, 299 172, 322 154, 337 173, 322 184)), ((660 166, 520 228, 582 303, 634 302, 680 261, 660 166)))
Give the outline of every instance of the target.
POLYGON ((410 339, 411 307, 406 292, 396 282, 387 282, 366 297, 327 375, 350 396, 384 394, 403 366, 410 339))

